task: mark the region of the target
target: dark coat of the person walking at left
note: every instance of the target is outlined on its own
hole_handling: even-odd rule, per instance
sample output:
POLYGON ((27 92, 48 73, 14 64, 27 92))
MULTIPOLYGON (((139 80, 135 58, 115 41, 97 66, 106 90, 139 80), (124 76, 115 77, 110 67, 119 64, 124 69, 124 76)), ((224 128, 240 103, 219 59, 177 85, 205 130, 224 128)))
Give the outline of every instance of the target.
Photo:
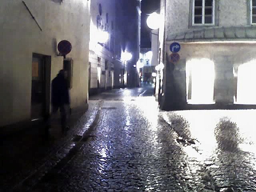
POLYGON ((52 105, 61 106, 64 104, 70 104, 68 81, 62 74, 58 74, 52 80, 52 105))

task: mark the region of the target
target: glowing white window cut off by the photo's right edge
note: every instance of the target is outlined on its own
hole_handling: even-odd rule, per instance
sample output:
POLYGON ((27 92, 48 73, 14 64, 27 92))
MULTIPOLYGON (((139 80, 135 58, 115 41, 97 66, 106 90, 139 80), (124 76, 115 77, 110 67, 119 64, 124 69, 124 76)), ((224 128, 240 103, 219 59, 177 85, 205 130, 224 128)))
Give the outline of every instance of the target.
POLYGON ((256 104, 256 60, 238 67, 237 102, 238 104, 256 104))

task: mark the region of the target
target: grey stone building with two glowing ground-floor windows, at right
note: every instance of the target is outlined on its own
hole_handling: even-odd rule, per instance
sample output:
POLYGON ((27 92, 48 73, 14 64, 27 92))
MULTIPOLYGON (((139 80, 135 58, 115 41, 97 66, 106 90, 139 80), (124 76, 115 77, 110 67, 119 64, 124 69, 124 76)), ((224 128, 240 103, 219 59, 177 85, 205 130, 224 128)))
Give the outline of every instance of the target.
POLYGON ((255 0, 162 0, 160 14, 162 109, 255 107, 255 0))

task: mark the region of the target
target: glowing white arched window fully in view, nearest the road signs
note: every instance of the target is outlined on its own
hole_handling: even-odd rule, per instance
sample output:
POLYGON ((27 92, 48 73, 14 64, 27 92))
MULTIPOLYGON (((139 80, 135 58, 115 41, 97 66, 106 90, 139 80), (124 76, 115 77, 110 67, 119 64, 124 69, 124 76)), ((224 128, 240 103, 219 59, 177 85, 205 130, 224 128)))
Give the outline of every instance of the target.
POLYGON ((189 104, 213 104, 214 62, 210 59, 192 59, 186 64, 187 101, 189 104), (191 74, 191 82, 189 82, 191 74), (191 83, 191 99, 188 100, 188 86, 191 83))

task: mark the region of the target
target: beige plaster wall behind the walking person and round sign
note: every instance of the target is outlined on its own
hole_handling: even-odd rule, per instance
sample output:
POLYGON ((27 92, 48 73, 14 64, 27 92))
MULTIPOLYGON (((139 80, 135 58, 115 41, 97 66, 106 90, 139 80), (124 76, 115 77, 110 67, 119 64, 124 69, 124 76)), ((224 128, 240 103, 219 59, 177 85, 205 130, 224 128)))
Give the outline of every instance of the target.
POLYGON ((71 107, 85 104, 88 94, 88 43, 90 0, 24 0, 42 31, 21 0, 0 2, 0 126, 30 119, 32 53, 51 56, 51 80, 62 69, 56 43, 68 40, 74 60, 71 107))

